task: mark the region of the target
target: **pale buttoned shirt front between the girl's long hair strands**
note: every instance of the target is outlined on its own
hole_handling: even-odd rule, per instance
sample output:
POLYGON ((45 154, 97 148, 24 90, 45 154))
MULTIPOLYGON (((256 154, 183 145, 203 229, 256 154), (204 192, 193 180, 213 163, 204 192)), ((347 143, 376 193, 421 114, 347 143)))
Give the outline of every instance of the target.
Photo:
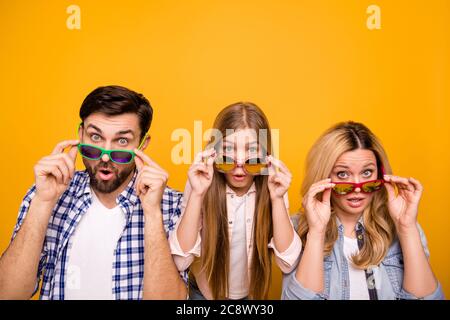
POLYGON ((230 244, 230 277, 228 279, 230 299, 242 299, 248 296, 247 240, 245 225, 245 196, 234 196, 233 236, 230 244))

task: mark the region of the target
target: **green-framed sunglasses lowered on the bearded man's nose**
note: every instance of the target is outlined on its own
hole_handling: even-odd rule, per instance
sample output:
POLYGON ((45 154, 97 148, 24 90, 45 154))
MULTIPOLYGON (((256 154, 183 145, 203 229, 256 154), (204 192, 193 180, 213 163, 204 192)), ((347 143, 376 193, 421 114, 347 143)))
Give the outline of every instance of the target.
MULTIPOLYGON (((80 123, 78 129, 82 126, 82 124, 83 123, 80 123)), ((148 134, 146 133, 142 138, 138 149, 141 149, 141 147, 144 145, 147 136, 148 134)), ((104 154, 107 154, 112 162, 118 164, 128 164, 134 160, 134 157, 136 155, 133 150, 126 150, 126 149, 107 150, 88 143, 78 144, 78 151, 80 152, 83 158, 89 160, 100 160, 104 154)))

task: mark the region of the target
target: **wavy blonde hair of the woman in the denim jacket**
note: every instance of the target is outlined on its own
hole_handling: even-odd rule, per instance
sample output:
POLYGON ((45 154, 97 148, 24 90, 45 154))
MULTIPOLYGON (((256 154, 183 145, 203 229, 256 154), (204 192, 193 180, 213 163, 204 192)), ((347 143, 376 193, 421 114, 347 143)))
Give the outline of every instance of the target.
MULTIPOLYGON (((339 123, 328 129, 309 151, 301 190, 302 196, 306 195, 313 183, 329 178, 334 164, 343 153, 356 149, 371 150, 375 154, 379 178, 383 175, 383 169, 385 174, 392 173, 383 146, 365 125, 351 121, 339 123)), ((332 202, 331 207, 331 218, 325 236, 325 255, 331 253, 338 238, 332 202)), ((395 235, 394 223, 387 208, 387 193, 384 188, 373 194, 373 199, 364 210, 362 217, 365 229, 364 246, 358 254, 352 257, 352 260, 355 267, 367 269, 381 263, 395 235)), ((298 233, 305 244, 308 222, 303 212, 300 215, 298 233)))

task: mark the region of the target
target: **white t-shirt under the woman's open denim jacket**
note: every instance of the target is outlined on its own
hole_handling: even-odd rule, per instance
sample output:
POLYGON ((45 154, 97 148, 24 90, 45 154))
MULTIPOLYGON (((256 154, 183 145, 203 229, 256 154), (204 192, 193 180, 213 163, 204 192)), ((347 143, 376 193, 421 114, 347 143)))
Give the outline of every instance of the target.
POLYGON ((350 258, 359 252, 357 239, 344 236, 344 255, 348 262, 348 273, 350 280, 350 300, 369 300, 366 273, 362 269, 353 266, 350 258))

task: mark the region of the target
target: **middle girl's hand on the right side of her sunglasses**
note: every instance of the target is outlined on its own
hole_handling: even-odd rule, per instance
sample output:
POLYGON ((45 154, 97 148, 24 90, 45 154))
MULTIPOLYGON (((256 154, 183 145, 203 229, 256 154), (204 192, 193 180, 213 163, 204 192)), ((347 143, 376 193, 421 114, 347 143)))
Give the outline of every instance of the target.
POLYGON ((267 156, 266 160, 269 164, 268 187, 270 198, 272 200, 283 198, 291 185, 292 174, 280 160, 272 156, 267 156), (278 170, 276 170, 276 168, 278 168, 278 170))

